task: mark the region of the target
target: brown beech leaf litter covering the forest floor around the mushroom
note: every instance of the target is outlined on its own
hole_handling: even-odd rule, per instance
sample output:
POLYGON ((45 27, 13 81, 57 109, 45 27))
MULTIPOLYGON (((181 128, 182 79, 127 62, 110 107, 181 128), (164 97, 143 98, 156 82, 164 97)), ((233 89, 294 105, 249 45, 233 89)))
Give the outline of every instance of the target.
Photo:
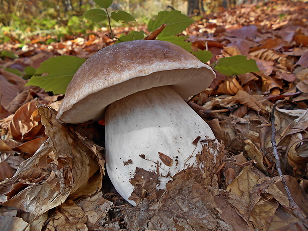
MULTIPOLYGON (((114 34, 129 30, 146 26, 119 27, 114 34)), ((212 52, 210 64, 244 55, 259 71, 217 73, 209 88, 190 98, 220 143, 196 139, 203 146, 197 162, 164 190, 155 187, 157 173, 137 168, 130 180, 135 207, 105 174, 103 123, 60 123, 63 95, 25 86, 22 78, 27 67, 39 68, 50 57, 88 58, 114 42, 104 33, 67 35, 51 44, 44 43, 50 35, 34 36, 22 49, 11 35, 0 45, 14 54, 0 60, 2 231, 308 230, 307 3, 222 9, 183 32, 193 51, 212 52), (215 159, 213 148, 219 150, 215 159)))

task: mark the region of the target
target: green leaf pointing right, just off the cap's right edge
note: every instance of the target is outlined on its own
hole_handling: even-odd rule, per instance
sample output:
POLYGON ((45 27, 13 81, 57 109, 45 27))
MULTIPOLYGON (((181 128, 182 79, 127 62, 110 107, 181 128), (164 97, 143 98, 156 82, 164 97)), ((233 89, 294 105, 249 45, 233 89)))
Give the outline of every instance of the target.
POLYGON ((247 57, 243 55, 221 58, 214 69, 226 76, 259 71, 256 62, 253 59, 247 60, 247 57))

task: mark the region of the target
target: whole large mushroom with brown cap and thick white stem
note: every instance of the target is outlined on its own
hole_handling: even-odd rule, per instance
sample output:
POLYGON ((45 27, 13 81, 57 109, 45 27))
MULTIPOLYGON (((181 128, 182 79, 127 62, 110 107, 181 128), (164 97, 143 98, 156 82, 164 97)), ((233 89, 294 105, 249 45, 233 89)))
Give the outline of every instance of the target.
MULTIPOLYGON (((183 100, 206 89, 213 70, 166 41, 136 40, 103 48, 77 71, 57 118, 82 123, 105 118, 106 169, 129 199, 137 167, 159 174, 157 188, 196 162, 201 139, 215 140, 183 100)), ((213 150, 213 155, 215 151, 213 150)))

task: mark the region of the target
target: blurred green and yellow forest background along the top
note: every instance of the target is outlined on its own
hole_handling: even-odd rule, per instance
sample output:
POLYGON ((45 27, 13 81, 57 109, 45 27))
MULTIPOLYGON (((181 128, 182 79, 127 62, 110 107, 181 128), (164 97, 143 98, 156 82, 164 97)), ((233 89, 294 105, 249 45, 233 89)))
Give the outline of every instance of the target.
MULTIPOLYGON (((131 13, 138 24, 146 24, 157 12, 180 10, 189 16, 210 14, 236 4, 257 0, 114 0, 112 10, 131 13)), ((106 26, 107 21, 92 23, 82 14, 97 5, 93 0, 0 0, 0 42, 8 42, 13 35, 23 40, 32 35, 85 33, 106 26)), ((22 41, 19 41, 22 42, 22 41)))

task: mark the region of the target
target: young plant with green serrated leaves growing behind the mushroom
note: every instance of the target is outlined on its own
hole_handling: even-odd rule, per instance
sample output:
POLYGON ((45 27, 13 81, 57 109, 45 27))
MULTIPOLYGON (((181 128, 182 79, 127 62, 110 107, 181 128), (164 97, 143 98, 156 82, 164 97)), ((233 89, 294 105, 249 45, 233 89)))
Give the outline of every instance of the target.
MULTIPOLYGON (((122 20, 129 22, 135 20, 129 13, 119 10, 117 12, 108 12, 108 8, 112 4, 112 0, 94 0, 103 9, 90 9, 83 16, 94 22, 108 20, 110 27, 110 37, 117 39, 116 43, 127 42, 139 39, 158 39, 174 43, 188 52, 191 52, 203 63, 211 60, 213 54, 210 51, 199 50, 192 52, 192 43, 187 41, 188 36, 177 36, 182 33, 194 20, 182 14, 180 11, 160 11, 155 19, 150 19, 148 22, 149 35, 144 31, 130 31, 127 35, 115 37, 112 32, 111 19, 115 21, 122 20)), ((27 85, 36 85, 47 91, 53 91, 56 94, 65 93, 66 87, 71 81, 77 69, 82 65, 84 59, 72 56, 61 56, 51 58, 42 63, 37 69, 36 75, 30 79, 27 85), (66 64, 66 65, 64 65, 66 64), (61 67, 57 70, 54 67, 61 67), (42 73, 48 75, 40 77, 42 73)), ((226 76, 240 75, 249 72, 258 72, 259 69, 256 62, 252 59, 248 60, 246 56, 233 56, 221 58, 216 63, 212 64, 213 69, 226 76)))

